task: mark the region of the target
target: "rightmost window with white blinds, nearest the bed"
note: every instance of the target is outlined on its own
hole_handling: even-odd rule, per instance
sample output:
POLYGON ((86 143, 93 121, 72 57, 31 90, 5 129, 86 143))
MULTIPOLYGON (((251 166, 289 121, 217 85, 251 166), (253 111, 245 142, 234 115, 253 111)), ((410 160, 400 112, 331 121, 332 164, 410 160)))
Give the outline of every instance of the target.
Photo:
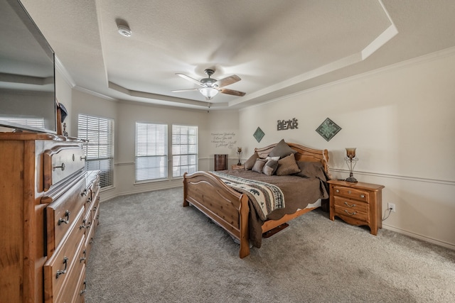
POLYGON ((198 170, 198 126, 172 126, 172 177, 198 170))

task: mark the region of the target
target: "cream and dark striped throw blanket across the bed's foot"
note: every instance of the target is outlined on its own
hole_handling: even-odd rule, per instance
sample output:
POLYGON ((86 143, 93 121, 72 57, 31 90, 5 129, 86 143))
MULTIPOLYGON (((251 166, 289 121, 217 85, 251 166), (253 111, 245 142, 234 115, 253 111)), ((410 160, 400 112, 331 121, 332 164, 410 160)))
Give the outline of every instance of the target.
POLYGON ((275 209, 284 208, 283 192, 276 185, 235 177, 227 175, 223 172, 214 171, 212 173, 236 192, 247 194, 262 221, 265 221, 267 219, 267 215, 275 209))

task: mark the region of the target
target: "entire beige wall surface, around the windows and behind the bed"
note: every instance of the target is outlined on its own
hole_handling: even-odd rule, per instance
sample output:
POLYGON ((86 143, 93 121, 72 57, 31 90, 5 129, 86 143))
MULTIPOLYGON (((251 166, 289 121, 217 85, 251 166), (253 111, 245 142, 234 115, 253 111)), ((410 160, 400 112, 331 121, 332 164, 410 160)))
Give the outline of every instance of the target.
POLYGON ((454 66, 454 52, 429 55, 241 111, 127 104, 73 90, 70 135, 77 134, 78 113, 115 119, 114 188, 102 199, 181 186, 181 180, 134 184, 136 121, 197 125, 200 170, 213 169, 215 153, 235 164, 237 146, 244 162, 255 147, 284 138, 328 149, 332 176, 346 178, 344 148, 356 147, 355 177, 385 185, 383 214, 387 202, 396 204, 383 227, 455 248, 454 66), (329 142, 315 131, 327 117, 342 128, 329 142), (298 128, 277 131, 277 120, 293 118, 298 128), (260 143, 252 136, 258 126, 265 133, 260 143))

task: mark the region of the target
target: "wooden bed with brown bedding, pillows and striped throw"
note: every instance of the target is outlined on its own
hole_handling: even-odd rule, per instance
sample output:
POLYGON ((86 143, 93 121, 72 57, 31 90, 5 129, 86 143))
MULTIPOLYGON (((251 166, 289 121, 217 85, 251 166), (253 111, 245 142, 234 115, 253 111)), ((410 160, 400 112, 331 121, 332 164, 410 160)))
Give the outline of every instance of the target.
MULTIPOLYGON (((265 166, 265 165, 264 165, 265 166)), ((293 166, 295 168, 295 165, 293 166)), ((282 170, 283 171, 283 170, 282 170)), ((183 176, 183 206, 190 204, 208 216, 215 224, 227 231, 232 238, 240 243, 240 258, 250 255, 250 243, 260 248, 262 234, 274 230, 291 219, 316 209, 321 199, 327 199, 326 180, 328 174, 328 150, 306 148, 296 143, 279 143, 264 148, 255 148, 255 153, 245 162, 245 170, 225 170, 221 172, 194 172, 183 176), (289 155, 280 155, 277 160, 277 150, 282 152, 289 148, 289 155), (272 157, 274 156, 274 157, 272 157), (299 172, 275 175, 284 162, 293 158, 299 167, 299 172), (259 160, 258 160, 259 159, 259 160), (251 163, 272 163, 277 160, 279 167, 273 175, 250 169, 251 163), (320 170, 320 172, 319 172, 320 170), (311 176, 310 176, 311 175, 311 176), (276 184, 284 195, 284 208, 274 209, 264 218, 257 209, 257 202, 252 201, 251 194, 241 192, 231 187, 230 179, 254 180, 276 184), (264 181, 265 180, 265 181, 264 181), (304 184, 304 185, 303 185, 304 184), (306 184, 309 184, 308 186, 306 184), (302 187, 308 187, 301 192, 302 187), (294 197, 291 197, 294 196, 294 197)))

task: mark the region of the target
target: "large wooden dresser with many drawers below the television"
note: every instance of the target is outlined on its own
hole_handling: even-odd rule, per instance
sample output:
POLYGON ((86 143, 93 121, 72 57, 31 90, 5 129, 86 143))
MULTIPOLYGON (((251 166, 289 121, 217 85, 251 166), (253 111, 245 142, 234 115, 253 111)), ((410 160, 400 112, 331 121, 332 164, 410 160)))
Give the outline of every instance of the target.
POLYGON ((0 133, 0 302, 84 302, 100 211, 84 142, 0 133))

